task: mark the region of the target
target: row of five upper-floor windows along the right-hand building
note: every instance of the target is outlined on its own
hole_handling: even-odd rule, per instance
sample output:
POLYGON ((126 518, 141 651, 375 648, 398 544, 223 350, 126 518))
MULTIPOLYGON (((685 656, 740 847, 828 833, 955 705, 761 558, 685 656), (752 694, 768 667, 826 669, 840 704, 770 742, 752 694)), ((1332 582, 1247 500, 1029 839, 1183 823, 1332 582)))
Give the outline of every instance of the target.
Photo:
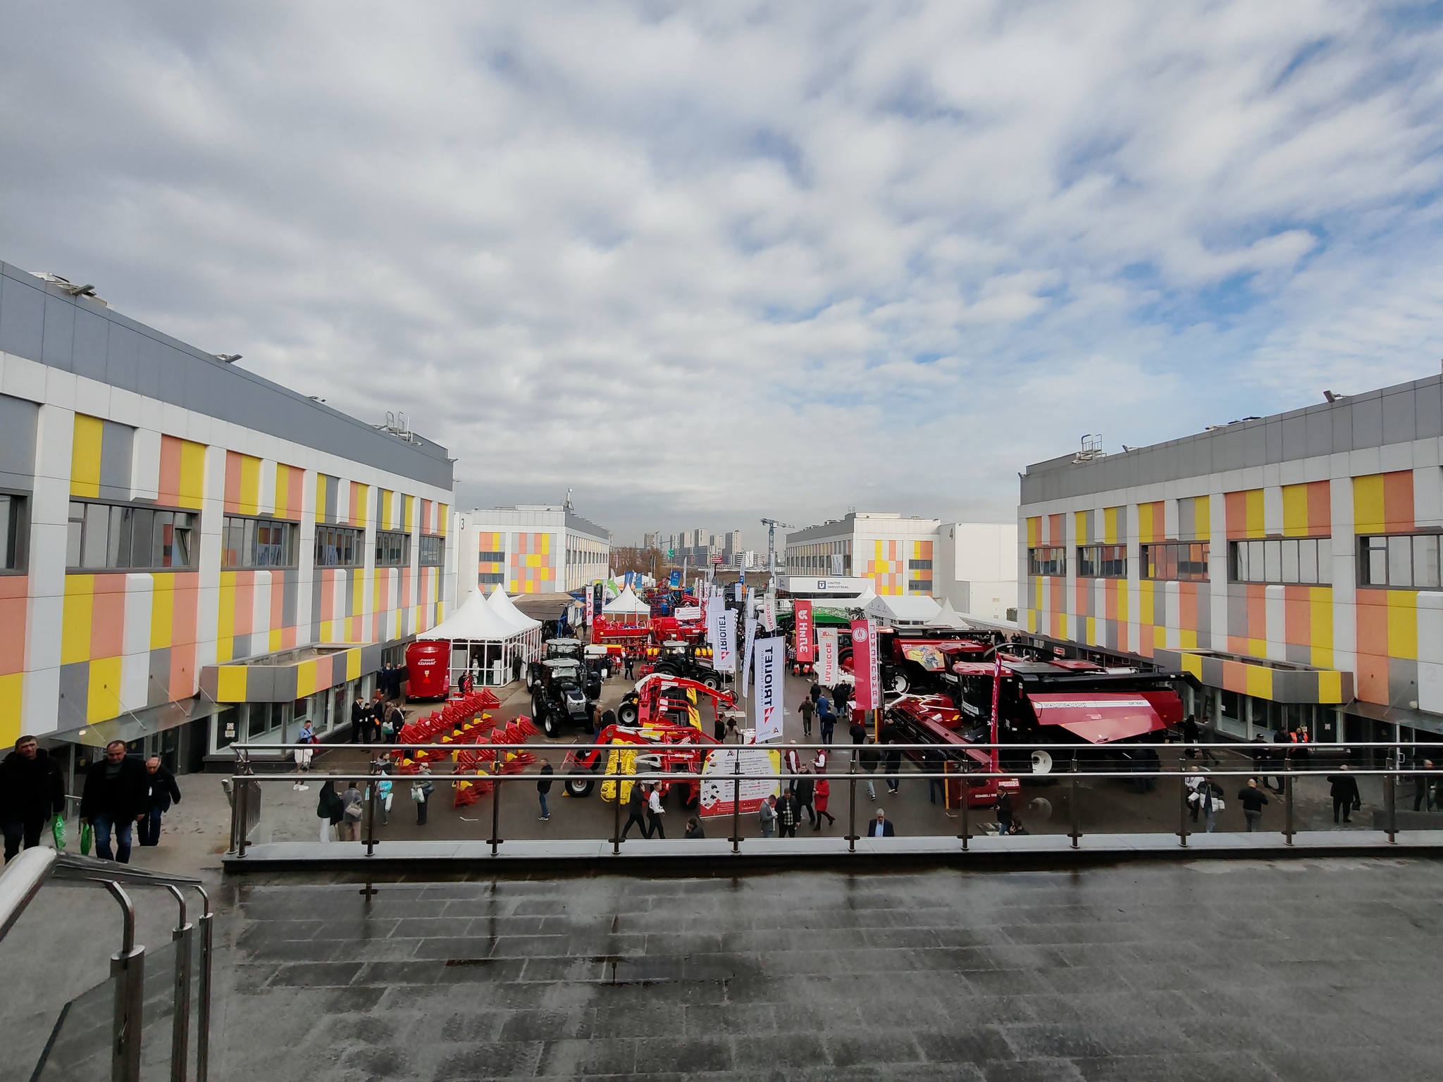
MULTIPOLYGON (((1274 586, 1332 584, 1332 538, 1286 537, 1231 541, 1228 579, 1274 586)), ((1140 579, 1208 581, 1206 541, 1163 541, 1140 545, 1140 579)), ((1078 577, 1126 579, 1127 545, 1078 545, 1078 577)), ((1066 548, 1027 550, 1027 574, 1063 577, 1066 548)), ((1382 534, 1358 538, 1358 581, 1414 590, 1443 587, 1443 540, 1439 534, 1382 534)))

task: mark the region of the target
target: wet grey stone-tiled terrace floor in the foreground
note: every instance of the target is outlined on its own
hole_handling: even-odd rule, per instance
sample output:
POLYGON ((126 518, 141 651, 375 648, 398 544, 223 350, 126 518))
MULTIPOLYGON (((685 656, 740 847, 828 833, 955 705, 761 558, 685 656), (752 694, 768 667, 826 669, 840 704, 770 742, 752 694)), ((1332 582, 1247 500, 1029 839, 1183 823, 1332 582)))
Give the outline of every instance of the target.
POLYGON ((1431 1076, 1430 860, 244 880, 218 1078, 1431 1076))

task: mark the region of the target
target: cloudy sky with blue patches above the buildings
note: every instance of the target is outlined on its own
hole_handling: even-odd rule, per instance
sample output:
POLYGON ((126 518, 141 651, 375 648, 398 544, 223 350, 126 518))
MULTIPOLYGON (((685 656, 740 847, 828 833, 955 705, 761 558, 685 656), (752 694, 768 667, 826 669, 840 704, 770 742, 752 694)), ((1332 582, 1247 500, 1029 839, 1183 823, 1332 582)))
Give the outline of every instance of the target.
POLYGON ((1439 371, 1436 6, 0 0, 0 258, 642 529, 1439 371))

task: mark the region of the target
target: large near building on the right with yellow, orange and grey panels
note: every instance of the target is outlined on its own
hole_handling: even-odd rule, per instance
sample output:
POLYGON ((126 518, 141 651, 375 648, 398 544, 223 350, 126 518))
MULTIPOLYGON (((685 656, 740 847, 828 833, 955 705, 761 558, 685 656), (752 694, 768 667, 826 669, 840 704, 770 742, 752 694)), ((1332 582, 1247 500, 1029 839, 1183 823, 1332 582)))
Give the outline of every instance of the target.
POLYGON ((1238 737, 1443 733, 1443 378, 1027 467, 1029 630, 1186 669, 1238 737))

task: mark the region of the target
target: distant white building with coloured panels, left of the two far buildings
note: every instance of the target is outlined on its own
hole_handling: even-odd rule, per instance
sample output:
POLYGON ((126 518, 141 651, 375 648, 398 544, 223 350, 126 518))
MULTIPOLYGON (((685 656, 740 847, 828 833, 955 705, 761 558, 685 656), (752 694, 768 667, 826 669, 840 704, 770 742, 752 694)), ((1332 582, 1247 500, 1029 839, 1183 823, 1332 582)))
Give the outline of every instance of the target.
POLYGON ((610 531, 561 503, 468 511, 457 538, 465 554, 457 603, 498 584, 506 593, 567 593, 606 579, 610 566, 610 531))

